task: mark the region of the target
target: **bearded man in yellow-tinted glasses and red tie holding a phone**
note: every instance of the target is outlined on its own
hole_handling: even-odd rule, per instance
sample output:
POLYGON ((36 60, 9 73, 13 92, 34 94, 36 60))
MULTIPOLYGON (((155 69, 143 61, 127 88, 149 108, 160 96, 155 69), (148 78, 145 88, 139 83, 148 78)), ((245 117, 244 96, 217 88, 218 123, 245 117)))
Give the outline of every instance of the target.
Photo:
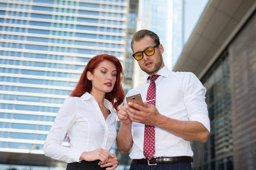
POLYGON ((194 74, 172 72, 164 65, 163 45, 154 32, 137 31, 131 48, 149 77, 127 96, 140 93, 149 102, 120 108, 118 150, 124 154, 132 147, 130 170, 192 170, 189 141, 207 142, 210 131, 206 89, 194 74))

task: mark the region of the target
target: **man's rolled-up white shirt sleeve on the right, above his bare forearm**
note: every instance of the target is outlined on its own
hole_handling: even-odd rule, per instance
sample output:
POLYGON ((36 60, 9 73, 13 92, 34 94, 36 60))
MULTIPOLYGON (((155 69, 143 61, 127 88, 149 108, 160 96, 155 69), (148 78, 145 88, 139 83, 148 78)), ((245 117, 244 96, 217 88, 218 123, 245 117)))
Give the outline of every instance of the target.
POLYGON ((190 121, 198 121, 210 132, 210 120, 205 102, 206 88, 193 73, 183 78, 184 102, 190 121))

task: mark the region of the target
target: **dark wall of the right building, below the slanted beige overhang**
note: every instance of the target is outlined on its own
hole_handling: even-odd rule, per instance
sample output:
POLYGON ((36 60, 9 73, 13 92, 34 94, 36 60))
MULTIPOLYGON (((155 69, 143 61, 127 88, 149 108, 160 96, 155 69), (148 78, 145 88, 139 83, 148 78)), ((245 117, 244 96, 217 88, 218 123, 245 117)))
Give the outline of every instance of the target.
POLYGON ((256 3, 239 32, 201 79, 211 133, 192 142, 194 170, 254 170, 256 166, 256 3))

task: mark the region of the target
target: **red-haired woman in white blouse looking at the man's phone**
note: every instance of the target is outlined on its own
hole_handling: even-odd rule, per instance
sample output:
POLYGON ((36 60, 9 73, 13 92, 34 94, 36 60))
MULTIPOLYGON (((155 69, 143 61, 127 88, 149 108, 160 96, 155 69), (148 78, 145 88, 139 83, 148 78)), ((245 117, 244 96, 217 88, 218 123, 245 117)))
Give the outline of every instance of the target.
POLYGON ((113 170, 109 152, 116 140, 116 111, 123 102, 122 65, 111 55, 90 59, 72 94, 64 101, 44 143, 44 154, 67 162, 66 170, 113 170), (70 147, 61 143, 69 136, 70 147))

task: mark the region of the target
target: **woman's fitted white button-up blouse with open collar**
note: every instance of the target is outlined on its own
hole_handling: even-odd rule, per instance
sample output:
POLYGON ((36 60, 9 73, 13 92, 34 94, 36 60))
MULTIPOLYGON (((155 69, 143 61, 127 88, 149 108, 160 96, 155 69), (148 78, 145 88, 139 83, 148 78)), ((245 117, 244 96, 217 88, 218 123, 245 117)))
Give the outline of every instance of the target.
POLYGON ((89 93, 81 97, 67 97, 44 142, 44 154, 67 163, 79 162, 83 152, 98 148, 110 150, 116 140, 116 111, 107 99, 104 105, 111 111, 104 116, 98 103, 89 93), (68 133, 70 148, 61 143, 68 133))

